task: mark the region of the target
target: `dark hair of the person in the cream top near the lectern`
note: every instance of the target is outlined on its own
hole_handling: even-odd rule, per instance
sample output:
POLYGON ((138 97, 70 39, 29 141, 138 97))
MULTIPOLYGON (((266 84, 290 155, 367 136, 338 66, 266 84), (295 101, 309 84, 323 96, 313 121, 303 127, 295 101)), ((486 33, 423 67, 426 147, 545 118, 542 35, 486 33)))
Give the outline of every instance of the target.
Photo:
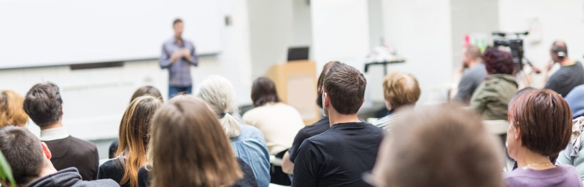
POLYGON ((253 81, 252 86, 253 107, 259 107, 266 103, 278 103, 280 98, 276 91, 276 84, 268 77, 259 77, 253 81))

